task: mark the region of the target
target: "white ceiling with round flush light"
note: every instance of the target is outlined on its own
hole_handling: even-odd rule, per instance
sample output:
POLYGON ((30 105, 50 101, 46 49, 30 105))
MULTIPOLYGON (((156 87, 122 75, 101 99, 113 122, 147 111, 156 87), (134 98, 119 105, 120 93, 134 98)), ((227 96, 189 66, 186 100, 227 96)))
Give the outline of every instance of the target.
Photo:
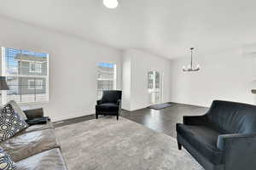
POLYGON ((255 0, 0 0, 0 14, 166 58, 256 42, 255 0))

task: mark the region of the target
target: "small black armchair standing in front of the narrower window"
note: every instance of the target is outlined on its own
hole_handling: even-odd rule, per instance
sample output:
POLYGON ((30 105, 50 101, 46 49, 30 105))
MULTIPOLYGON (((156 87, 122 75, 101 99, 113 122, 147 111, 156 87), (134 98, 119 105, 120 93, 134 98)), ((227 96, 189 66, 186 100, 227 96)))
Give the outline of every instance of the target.
POLYGON ((119 112, 121 111, 122 91, 107 90, 103 91, 102 99, 97 100, 96 119, 99 115, 117 116, 119 120, 119 112))

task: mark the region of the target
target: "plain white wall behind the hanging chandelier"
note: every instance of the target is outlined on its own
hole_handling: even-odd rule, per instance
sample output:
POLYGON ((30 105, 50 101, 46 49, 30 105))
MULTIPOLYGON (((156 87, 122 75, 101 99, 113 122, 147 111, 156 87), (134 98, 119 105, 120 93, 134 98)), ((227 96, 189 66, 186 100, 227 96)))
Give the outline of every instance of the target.
POLYGON ((172 60, 171 101, 189 105, 209 106, 213 99, 255 104, 255 58, 245 56, 242 48, 226 49, 215 54, 195 55, 201 71, 183 72, 185 59, 172 60))

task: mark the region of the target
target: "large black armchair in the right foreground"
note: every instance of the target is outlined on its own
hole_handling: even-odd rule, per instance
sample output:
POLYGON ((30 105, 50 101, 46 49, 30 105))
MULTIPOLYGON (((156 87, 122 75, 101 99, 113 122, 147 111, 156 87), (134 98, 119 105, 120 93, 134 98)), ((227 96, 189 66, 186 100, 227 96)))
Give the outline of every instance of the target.
POLYGON ((215 100, 206 115, 177 123, 177 144, 206 170, 256 169, 256 106, 215 100))

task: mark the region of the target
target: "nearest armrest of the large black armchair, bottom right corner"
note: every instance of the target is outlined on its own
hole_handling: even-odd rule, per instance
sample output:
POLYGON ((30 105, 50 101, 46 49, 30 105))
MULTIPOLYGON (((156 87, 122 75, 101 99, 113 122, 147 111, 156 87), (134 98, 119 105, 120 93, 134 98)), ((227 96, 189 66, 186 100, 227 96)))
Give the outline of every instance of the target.
POLYGON ((256 167, 256 133, 219 135, 217 148, 224 151, 224 169, 241 170, 256 167))

